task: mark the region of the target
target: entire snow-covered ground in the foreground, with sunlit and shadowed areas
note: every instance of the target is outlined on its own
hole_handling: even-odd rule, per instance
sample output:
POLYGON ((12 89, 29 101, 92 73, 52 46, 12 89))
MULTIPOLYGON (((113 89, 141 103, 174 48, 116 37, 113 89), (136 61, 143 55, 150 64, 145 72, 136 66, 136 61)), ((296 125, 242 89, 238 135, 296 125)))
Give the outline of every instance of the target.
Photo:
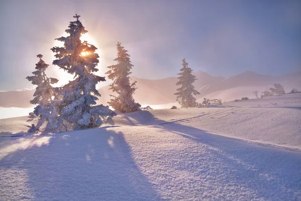
POLYGON ((33 123, 0 120, 0 200, 301 200, 301 93, 40 136, 33 123))

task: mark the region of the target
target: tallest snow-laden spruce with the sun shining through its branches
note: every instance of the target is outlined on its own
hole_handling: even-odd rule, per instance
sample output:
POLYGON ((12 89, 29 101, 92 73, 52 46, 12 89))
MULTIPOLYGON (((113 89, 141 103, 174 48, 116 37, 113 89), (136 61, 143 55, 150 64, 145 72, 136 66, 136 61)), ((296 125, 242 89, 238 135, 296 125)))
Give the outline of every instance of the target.
POLYGON ((65 31, 69 36, 56 39, 64 42, 64 47, 51 49, 57 58, 53 64, 74 75, 74 80, 60 88, 62 100, 59 106, 59 126, 66 130, 97 127, 106 117, 116 115, 108 106, 95 106, 98 100, 96 96, 100 96, 96 84, 105 81, 105 78, 94 74, 98 71, 97 48, 80 40, 81 35, 87 31, 78 20, 80 16, 73 17, 76 21, 70 22, 69 29, 65 31))

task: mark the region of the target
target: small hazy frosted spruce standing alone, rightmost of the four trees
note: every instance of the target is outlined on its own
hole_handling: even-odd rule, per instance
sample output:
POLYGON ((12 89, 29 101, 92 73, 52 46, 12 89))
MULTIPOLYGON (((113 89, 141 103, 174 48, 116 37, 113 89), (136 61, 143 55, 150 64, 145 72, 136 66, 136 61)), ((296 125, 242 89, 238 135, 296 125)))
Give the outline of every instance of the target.
POLYGON ((197 107, 196 98, 193 95, 200 94, 197 90, 194 89, 194 85, 192 83, 196 80, 196 76, 191 74, 192 69, 188 67, 188 63, 183 59, 182 63, 183 68, 181 68, 181 72, 178 74, 179 81, 176 85, 180 85, 181 87, 177 89, 177 101, 181 105, 182 108, 190 108, 197 107))

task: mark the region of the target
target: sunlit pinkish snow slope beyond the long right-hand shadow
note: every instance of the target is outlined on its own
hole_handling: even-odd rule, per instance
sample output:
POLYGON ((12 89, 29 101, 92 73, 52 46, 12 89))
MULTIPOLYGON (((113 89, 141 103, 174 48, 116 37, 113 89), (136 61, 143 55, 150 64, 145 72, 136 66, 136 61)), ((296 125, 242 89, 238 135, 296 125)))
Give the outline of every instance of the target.
MULTIPOLYGON (((288 108, 163 109, 117 116, 113 126, 181 124, 211 134, 301 151, 301 111, 288 108), (182 112, 183 111, 183 112, 182 112)), ((108 124, 103 125, 103 127, 108 124)))

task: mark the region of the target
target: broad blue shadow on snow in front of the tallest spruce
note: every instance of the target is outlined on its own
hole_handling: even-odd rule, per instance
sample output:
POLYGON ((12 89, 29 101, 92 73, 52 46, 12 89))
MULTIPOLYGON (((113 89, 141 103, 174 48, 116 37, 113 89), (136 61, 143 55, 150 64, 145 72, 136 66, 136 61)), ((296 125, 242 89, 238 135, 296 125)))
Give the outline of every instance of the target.
MULTIPOLYGON (((17 198, 24 198, 25 190, 20 193, 9 183, 15 176, 18 182, 26 180, 24 185, 35 200, 160 199, 136 166, 121 132, 82 130, 36 139, 46 137, 49 142, 41 147, 19 149, 0 160, 0 177, 16 171, 3 181, 4 191, 0 190, 0 194, 16 191, 17 198), (21 170, 26 174, 18 174, 21 170)), ((19 139, 21 143, 25 140, 19 139)), ((0 148, 0 154, 1 151, 0 148)))

